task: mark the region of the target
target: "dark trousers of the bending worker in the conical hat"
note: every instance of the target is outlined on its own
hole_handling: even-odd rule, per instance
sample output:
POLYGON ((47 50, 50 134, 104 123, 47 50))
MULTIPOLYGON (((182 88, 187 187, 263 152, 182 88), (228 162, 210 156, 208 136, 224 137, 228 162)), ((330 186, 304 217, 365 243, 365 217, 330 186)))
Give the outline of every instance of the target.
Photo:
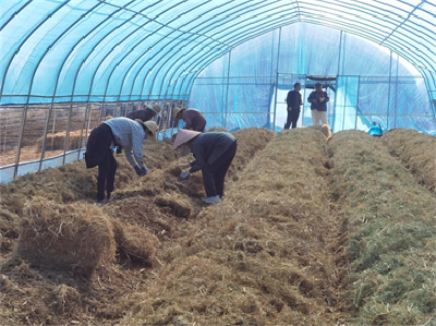
POLYGON ((203 184, 208 197, 222 197, 225 193, 225 178, 237 154, 237 141, 211 165, 206 164, 203 169, 203 184))

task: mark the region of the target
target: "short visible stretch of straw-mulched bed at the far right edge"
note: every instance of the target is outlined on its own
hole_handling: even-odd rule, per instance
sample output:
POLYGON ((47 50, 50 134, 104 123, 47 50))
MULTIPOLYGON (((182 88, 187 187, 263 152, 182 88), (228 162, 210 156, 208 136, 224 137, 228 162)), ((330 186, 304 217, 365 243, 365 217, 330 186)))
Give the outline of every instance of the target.
POLYGON ((419 183, 436 193, 436 137, 415 130, 393 129, 386 132, 382 141, 419 183))

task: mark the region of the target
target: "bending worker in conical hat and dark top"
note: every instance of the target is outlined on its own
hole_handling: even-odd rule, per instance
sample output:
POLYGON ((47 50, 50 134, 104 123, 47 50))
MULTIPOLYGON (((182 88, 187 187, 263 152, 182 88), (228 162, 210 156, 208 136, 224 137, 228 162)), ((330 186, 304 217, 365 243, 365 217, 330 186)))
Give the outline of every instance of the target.
POLYGON ((203 202, 215 204, 221 201, 225 191, 225 178, 237 154, 237 138, 227 132, 201 133, 190 130, 179 130, 174 148, 187 145, 194 154, 195 160, 181 165, 190 168, 180 174, 187 180, 191 173, 202 170, 203 183, 207 194, 203 202))

